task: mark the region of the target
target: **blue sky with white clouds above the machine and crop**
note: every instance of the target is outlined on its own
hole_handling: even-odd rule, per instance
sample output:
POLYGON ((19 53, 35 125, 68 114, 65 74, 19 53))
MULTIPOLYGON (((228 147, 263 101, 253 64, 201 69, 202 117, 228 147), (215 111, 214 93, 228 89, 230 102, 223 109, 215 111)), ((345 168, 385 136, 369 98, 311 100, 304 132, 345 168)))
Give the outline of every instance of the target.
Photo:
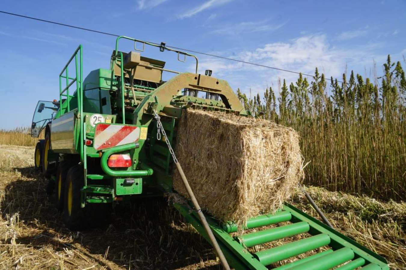
MULTIPOLYGON (((378 75, 388 54, 406 56, 406 2, 394 1, 9 1, 0 10, 328 77, 354 70, 378 75), (119 5, 121 4, 121 6, 119 5)), ((29 126, 37 100, 58 98, 58 74, 78 44, 84 76, 108 68, 115 38, 0 13, 0 128, 29 126)), ((132 43, 120 49, 131 51, 132 43)), ((193 61, 147 49, 166 67, 193 71, 193 61)), ((249 95, 296 74, 197 55, 249 95)))

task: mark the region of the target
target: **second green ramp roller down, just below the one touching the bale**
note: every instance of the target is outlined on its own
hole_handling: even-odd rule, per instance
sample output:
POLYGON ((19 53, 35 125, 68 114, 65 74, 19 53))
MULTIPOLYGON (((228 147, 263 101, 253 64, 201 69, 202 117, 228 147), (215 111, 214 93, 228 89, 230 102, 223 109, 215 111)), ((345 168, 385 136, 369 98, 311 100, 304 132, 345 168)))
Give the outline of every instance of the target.
POLYGON ((302 221, 268 230, 245 234, 242 236, 242 241, 240 240, 240 242, 243 242, 246 247, 253 247, 258 244, 263 244, 285 237, 302 234, 304 232, 309 232, 309 229, 309 224, 302 221))

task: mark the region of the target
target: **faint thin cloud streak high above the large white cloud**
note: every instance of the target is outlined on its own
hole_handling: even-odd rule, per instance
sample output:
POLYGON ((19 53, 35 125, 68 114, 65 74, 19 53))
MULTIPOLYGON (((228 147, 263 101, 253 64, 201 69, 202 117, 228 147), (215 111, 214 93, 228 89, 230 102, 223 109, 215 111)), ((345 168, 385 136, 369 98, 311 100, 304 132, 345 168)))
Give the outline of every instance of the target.
POLYGON ((269 19, 262 21, 244 21, 241 23, 234 23, 232 25, 222 26, 216 30, 213 30, 213 34, 227 34, 232 36, 238 36, 241 33, 254 33, 254 32, 266 32, 275 31, 285 26, 288 21, 279 24, 268 23, 269 19))

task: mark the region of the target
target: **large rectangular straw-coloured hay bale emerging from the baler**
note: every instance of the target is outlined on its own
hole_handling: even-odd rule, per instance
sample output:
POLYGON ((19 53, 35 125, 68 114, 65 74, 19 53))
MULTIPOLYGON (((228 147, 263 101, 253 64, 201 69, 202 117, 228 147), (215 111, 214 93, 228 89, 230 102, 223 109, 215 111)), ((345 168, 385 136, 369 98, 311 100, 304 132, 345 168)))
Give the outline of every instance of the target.
MULTIPOLYGON (((298 133, 253 117, 188 109, 175 153, 200 206, 239 227, 279 208, 302 178, 298 133)), ((173 187, 188 197, 176 170, 173 187)))

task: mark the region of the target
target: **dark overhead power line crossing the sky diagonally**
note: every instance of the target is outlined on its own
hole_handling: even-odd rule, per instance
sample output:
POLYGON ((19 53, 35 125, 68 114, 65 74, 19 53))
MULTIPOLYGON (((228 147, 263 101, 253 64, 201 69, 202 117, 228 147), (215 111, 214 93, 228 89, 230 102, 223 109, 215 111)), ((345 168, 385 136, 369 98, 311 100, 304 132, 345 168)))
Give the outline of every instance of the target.
MULTIPOLYGON (((53 24, 57 24, 57 25, 60 25, 60 26, 76 28, 76 29, 85 30, 85 31, 89 31, 89 32, 94 32, 94 33, 98 33, 98 34, 105 34, 105 35, 116 36, 116 37, 119 36, 119 35, 116 35, 116 34, 111 34, 111 33, 103 32, 103 31, 93 30, 93 29, 89 29, 89 28, 83 28, 83 27, 79 27, 79 26, 72 26, 72 25, 66 24, 66 23, 58 23, 56 21, 44 20, 44 19, 39 19, 39 18, 35 18, 35 17, 29 17, 29 16, 16 14, 16 13, 11 13, 11 12, 6 12, 6 11, 0 11, 0 13, 13 15, 13 16, 17 16, 17 17, 22 17, 22 18, 26 18, 26 19, 32 19, 32 20, 36 20, 36 21, 43 21, 45 23, 53 23, 53 24)), ((147 42, 153 43, 153 42, 150 42, 150 41, 147 41, 147 42)), ((224 57, 224 56, 220 56, 220 55, 214 55, 214 54, 210 54, 210 53, 202 53, 200 51, 194 51, 194 50, 190 50, 190 49, 184 49, 184 48, 179 48, 179 47, 174 47, 174 46, 169 46, 169 45, 165 45, 165 46, 169 47, 169 48, 177 49, 177 50, 189 51, 189 52, 198 53, 198 54, 201 54, 201 55, 217 57, 217 58, 221 58, 221 59, 224 59, 224 60, 230 60, 230 61, 240 62, 240 63, 254 65, 254 66, 260 66, 260 67, 263 67, 263 68, 271 68, 271 69, 274 69, 274 70, 280 70, 280 71, 285 71, 285 72, 290 72, 290 73, 295 73, 295 74, 302 74, 302 75, 308 76, 308 77, 313 77, 313 75, 310 75, 310 74, 306 74, 306 73, 302 73, 302 72, 296 72, 296 71, 287 70, 287 69, 283 69, 283 68, 275 68, 275 67, 272 67, 272 66, 266 66, 266 65, 261 65, 261 64, 257 64, 257 63, 251 63, 251 62, 242 61, 242 60, 238 60, 238 59, 233 59, 233 58, 229 58, 229 57, 224 57)), ((331 79, 328 79, 328 78, 326 78, 326 80, 331 81, 331 79)), ((341 81, 339 81, 339 82, 341 83, 341 81)))

